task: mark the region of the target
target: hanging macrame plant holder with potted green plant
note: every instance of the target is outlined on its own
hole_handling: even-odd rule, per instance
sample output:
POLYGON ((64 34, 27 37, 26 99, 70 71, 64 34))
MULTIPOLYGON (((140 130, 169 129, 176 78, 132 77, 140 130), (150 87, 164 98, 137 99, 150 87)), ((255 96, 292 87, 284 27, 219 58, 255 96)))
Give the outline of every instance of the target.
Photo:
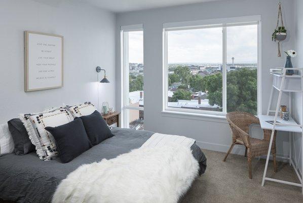
POLYGON ((278 20, 277 20, 277 26, 273 33, 272 39, 275 42, 278 42, 278 57, 281 57, 281 51, 280 51, 280 42, 286 39, 286 29, 284 27, 283 18, 282 18, 282 10, 281 10, 281 2, 279 5, 279 11, 278 11, 278 20), (280 21, 281 19, 281 21, 280 21), (279 26, 279 23, 281 22, 281 26, 279 26))

